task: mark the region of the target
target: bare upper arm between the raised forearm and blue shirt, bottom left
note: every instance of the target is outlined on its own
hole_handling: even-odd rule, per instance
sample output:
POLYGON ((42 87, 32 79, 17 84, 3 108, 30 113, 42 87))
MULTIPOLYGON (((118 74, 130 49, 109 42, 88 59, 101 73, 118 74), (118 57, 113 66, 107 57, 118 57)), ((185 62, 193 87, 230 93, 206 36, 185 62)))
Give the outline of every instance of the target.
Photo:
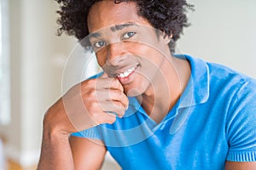
POLYGON ((99 140, 71 136, 69 139, 76 169, 100 169, 106 147, 99 140))

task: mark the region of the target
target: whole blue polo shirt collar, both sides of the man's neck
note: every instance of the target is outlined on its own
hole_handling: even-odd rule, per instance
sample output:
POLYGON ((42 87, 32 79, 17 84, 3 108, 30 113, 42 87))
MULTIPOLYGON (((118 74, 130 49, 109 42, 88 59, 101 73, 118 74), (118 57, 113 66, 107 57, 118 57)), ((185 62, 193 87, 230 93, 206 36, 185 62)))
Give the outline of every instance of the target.
MULTIPOLYGON (((168 113, 163 122, 171 120, 174 118, 172 122, 172 126, 170 127, 170 134, 176 133, 182 126, 186 120, 186 117, 189 115, 190 110, 180 110, 186 109, 193 105, 200 105, 207 102, 209 98, 209 68, 207 63, 202 59, 195 59, 190 57, 189 55, 175 55, 176 57, 188 59, 190 68, 191 68, 191 76, 188 82, 187 87, 185 88, 182 96, 178 100, 175 107, 168 113), (172 113, 171 113, 172 112, 172 113)), ((140 112, 144 115, 147 115, 143 110, 143 107, 137 101, 135 97, 129 98, 130 106, 128 111, 126 111, 125 116, 130 116, 135 112, 140 112)))

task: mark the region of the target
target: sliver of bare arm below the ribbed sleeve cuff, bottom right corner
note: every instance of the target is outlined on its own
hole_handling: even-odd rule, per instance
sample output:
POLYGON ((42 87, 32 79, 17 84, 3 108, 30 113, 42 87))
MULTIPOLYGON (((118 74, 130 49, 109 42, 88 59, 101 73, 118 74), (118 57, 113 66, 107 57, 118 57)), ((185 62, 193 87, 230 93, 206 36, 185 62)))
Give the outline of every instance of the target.
POLYGON ((225 170, 256 170, 256 161, 226 161, 225 170))

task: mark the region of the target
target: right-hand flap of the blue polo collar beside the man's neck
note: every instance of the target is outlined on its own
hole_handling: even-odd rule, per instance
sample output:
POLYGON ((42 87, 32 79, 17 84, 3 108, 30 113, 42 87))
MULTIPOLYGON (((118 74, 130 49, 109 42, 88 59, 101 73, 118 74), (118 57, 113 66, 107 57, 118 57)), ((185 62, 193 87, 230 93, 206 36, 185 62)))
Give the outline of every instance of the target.
POLYGON ((207 63, 201 59, 195 59, 189 55, 180 55, 189 60, 191 76, 179 102, 175 118, 170 128, 170 134, 176 133, 189 116, 190 107, 207 102, 209 98, 209 68, 207 63), (179 110, 179 109, 186 110, 179 110))

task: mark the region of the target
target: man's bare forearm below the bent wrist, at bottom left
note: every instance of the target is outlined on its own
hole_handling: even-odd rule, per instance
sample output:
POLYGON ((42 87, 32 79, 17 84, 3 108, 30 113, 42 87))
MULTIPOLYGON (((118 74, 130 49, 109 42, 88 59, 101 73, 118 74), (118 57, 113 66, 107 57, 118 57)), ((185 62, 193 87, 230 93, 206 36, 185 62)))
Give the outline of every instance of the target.
POLYGON ((44 132, 38 170, 44 169, 75 169, 68 134, 44 132))

